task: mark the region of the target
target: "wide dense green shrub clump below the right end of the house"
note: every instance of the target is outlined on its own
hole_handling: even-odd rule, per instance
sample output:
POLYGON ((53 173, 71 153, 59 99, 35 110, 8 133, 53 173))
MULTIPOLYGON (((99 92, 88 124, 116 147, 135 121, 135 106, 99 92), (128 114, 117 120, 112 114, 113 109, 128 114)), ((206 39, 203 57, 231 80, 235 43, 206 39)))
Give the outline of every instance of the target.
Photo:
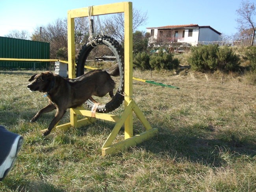
POLYGON ((235 71, 240 65, 239 57, 227 46, 217 44, 203 45, 191 48, 188 63, 193 70, 235 71))

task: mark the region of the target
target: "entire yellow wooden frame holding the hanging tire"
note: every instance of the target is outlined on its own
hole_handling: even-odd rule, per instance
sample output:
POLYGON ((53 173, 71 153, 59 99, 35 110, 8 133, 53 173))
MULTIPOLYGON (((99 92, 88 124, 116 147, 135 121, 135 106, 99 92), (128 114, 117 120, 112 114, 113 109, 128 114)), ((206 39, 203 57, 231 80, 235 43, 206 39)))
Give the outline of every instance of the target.
MULTIPOLYGON (((86 126, 95 122, 96 119, 103 119, 116 122, 115 127, 111 131, 104 145, 102 146, 102 156, 116 153, 124 150, 129 146, 134 146, 150 138, 158 131, 152 128, 147 119, 132 99, 132 2, 120 2, 114 4, 100 5, 92 7, 93 15, 106 15, 111 13, 124 13, 124 112, 121 116, 113 114, 96 113, 95 118, 91 116, 91 111, 87 111, 84 107, 70 109, 70 122, 59 125, 56 128, 68 129, 69 127, 86 126), (137 115, 146 131, 133 135, 133 112, 137 115), (77 120, 76 115, 85 116, 82 120, 77 120), (117 133, 124 125, 124 140, 113 143, 117 133)), ((88 7, 74 9, 68 11, 68 68, 69 78, 75 78, 75 45, 74 45, 74 18, 88 17, 88 7)))

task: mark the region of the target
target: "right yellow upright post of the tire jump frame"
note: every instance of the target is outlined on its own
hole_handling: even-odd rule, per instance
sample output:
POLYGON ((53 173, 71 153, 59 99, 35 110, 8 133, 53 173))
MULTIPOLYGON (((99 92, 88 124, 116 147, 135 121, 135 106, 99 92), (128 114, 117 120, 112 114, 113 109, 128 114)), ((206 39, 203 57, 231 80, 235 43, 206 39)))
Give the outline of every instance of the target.
MULTIPOLYGON (((124 107, 132 100, 132 2, 124 2, 124 107)), ((130 113, 124 122, 124 139, 133 137, 130 113)))

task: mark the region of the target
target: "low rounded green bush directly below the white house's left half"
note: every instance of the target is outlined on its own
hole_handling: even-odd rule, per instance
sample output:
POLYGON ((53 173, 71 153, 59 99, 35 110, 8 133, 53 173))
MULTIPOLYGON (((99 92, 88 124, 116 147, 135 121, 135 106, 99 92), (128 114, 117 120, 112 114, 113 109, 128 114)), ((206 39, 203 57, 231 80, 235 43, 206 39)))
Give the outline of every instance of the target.
POLYGON ((171 70, 179 65, 178 59, 173 59, 172 54, 164 53, 162 49, 150 56, 149 64, 156 70, 166 69, 171 70))

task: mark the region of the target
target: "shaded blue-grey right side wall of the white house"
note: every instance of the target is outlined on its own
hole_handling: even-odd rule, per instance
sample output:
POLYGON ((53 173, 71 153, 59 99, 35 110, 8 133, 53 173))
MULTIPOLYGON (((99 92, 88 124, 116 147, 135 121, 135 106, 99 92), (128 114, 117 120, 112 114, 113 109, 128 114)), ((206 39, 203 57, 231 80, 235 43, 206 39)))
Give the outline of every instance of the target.
POLYGON ((221 37, 218 33, 211 30, 210 28, 200 28, 198 41, 205 42, 204 44, 208 44, 207 42, 221 41, 221 37))

